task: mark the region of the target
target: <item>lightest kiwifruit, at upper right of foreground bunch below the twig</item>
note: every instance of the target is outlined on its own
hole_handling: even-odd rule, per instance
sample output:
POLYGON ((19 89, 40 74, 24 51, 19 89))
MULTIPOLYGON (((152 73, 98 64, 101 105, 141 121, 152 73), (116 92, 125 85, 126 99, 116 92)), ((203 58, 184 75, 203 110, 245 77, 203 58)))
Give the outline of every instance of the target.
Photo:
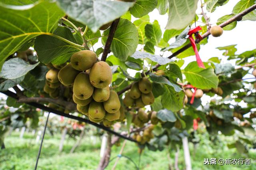
POLYGON ((112 82, 112 70, 108 63, 100 61, 92 66, 90 82, 96 88, 105 88, 112 82))

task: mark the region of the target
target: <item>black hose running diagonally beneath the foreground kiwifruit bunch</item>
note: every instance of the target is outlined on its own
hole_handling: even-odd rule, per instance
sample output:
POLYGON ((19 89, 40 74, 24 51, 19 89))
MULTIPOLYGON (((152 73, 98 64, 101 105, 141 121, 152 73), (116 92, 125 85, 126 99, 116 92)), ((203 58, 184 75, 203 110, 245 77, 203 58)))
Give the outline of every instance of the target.
MULTIPOLYGON (((12 97, 12 98, 14 98, 14 99, 16 99, 16 100, 19 99, 18 96, 16 95, 16 93, 11 92, 10 90, 7 90, 7 91, 1 92, 1 93, 5 94, 5 95, 7 95, 7 96, 10 96, 10 97, 12 97)), ((130 138, 130 137, 126 137, 126 136, 124 136, 124 135, 121 135, 120 133, 117 133, 117 132, 115 132, 115 131, 112 131, 112 130, 109 129, 108 127, 105 127, 105 126, 100 125, 100 124, 98 124, 98 123, 94 123, 94 122, 92 122, 92 121, 90 121, 90 120, 88 120, 88 119, 84 119, 84 118, 82 118, 82 117, 78 117, 78 116, 74 116, 74 115, 69 115, 69 114, 63 113, 62 111, 58 111, 58 110, 56 110, 56 109, 52 109, 52 108, 50 108, 50 107, 46 107, 46 106, 44 106, 44 105, 42 105, 42 104, 39 104, 39 103, 36 103, 36 102, 31 102, 31 103, 26 103, 26 104, 28 104, 28 105, 30 105, 30 106, 34 106, 34 107, 39 108, 39 109, 42 109, 42 110, 45 110, 45 111, 48 111, 48 112, 51 112, 51 113, 54 113, 54 114, 56 114, 56 115, 68 117, 68 118, 70 118, 70 119, 75 119, 75 120, 78 120, 78 121, 82 121, 82 122, 88 123, 88 124, 90 124, 90 125, 94 125, 94 126, 100 128, 100 129, 103 129, 104 131, 108 131, 109 133, 112 133, 113 135, 116 135, 116 136, 121 137, 121 138, 123 138, 123 139, 126 139, 126 140, 128 140, 128 141, 132 141, 132 142, 138 143, 137 141, 135 141, 134 139, 132 139, 132 138, 130 138)))

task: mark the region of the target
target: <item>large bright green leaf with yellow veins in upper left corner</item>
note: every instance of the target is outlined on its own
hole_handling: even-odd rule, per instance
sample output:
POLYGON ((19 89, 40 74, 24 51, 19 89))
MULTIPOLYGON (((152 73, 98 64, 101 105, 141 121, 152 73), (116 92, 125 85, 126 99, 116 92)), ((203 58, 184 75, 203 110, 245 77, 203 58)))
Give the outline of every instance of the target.
POLYGON ((0 4, 0 68, 9 55, 30 39, 51 35, 62 16, 64 12, 52 2, 8 7, 0 4))

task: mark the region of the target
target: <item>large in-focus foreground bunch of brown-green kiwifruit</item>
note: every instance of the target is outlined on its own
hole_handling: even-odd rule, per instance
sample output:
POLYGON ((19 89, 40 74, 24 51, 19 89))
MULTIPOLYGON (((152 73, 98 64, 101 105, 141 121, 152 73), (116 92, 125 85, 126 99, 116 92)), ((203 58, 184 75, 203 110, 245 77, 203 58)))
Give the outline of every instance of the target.
MULTIPOLYGON (((111 82, 110 66, 104 61, 97 62, 93 51, 84 50, 74 53, 70 63, 60 70, 51 68, 46 73, 45 88, 49 92, 49 88, 52 90, 55 84, 60 83, 72 87, 72 99, 77 104, 77 110, 88 116, 90 121, 103 121, 103 125, 109 127, 114 121, 124 119, 118 94, 110 90, 111 82)), ((50 92, 50 96, 55 90, 50 92)))

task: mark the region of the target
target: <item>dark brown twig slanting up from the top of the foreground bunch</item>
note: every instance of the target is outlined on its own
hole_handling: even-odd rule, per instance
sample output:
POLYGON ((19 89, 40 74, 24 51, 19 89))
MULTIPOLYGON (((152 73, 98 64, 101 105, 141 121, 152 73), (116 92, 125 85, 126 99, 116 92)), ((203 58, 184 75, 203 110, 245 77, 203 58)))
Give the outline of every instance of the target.
POLYGON ((119 23, 119 20, 120 20, 120 18, 114 20, 111 24, 110 31, 109 31, 109 34, 108 34, 108 39, 106 41, 104 51, 102 53, 101 61, 106 61, 108 53, 110 53, 110 46, 111 46, 112 40, 114 38, 114 34, 116 32, 116 28, 117 28, 117 25, 119 23))

